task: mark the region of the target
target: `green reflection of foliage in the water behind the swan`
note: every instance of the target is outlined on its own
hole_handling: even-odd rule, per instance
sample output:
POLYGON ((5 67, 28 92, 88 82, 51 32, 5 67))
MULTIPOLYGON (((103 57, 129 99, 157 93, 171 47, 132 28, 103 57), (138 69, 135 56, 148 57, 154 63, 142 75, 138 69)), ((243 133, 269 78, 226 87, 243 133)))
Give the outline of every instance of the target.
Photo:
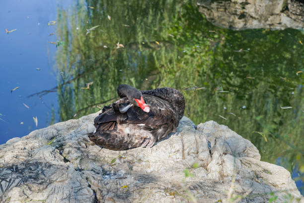
POLYGON ((227 125, 253 142, 262 160, 282 157, 289 171, 304 165, 300 31, 218 28, 187 0, 87 0, 58 13, 62 121, 114 101, 119 84, 173 87, 183 92, 185 115, 196 124, 227 125), (81 89, 89 82, 89 90, 81 89))

